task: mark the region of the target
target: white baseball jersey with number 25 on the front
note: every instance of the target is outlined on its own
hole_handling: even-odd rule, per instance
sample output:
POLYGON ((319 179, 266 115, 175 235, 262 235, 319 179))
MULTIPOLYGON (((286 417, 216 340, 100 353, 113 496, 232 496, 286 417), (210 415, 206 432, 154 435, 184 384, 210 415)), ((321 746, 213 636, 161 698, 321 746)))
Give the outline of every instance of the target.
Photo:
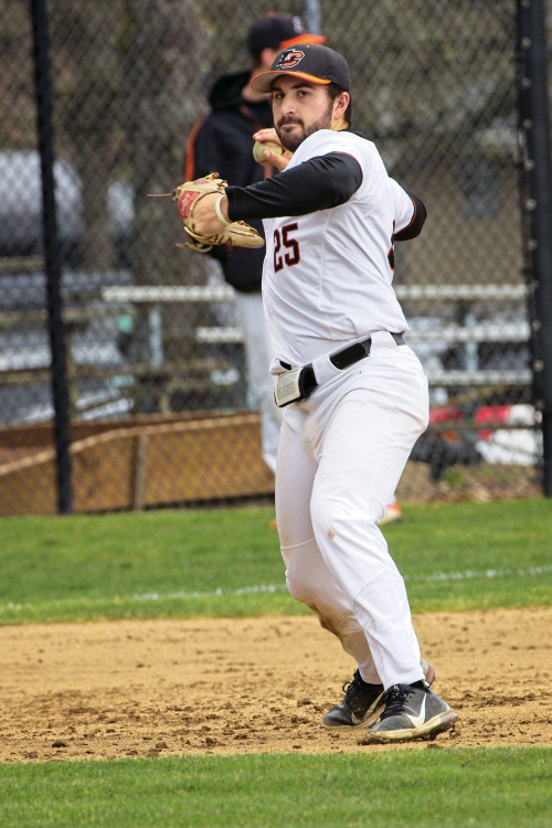
POLYGON ((273 372, 280 360, 302 365, 376 330, 408 330, 392 286, 392 236, 411 222, 413 202, 388 176, 374 144, 353 132, 315 132, 287 169, 329 152, 359 163, 362 183, 353 195, 329 210, 263 221, 273 372))

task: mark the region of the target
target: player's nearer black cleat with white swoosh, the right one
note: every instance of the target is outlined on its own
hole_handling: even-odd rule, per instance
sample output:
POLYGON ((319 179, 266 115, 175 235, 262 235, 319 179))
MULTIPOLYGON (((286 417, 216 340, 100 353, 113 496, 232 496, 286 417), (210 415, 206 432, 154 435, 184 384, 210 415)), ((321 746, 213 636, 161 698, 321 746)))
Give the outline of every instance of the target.
POLYGON ((363 744, 435 739, 438 733, 453 730, 458 720, 458 714, 429 690, 426 681, 393 684, 383 693, 378 709, 380 721, 372 725, 363 744))

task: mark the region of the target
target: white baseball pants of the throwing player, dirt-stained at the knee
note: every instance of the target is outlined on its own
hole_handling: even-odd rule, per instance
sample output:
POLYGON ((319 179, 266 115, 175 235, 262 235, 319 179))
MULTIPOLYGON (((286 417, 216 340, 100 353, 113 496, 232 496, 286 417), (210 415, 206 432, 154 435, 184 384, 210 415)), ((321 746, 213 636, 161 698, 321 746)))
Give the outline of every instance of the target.
POLYGON ((368 358, 283 411, 276 520, 290 594, 364 681, 423 679, 404 581, 378 526, 428 422, 417 357, 378 331, 368 358))

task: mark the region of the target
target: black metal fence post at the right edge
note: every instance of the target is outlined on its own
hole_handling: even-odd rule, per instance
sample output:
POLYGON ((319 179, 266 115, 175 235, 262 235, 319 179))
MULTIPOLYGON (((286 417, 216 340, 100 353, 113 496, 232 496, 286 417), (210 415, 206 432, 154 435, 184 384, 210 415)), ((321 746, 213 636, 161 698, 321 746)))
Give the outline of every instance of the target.
POLYGON ((517 0, 517 92, 533 395, 542 416, 543 492, 552 497, 552 176, 544 7, 544 0, 517 0))

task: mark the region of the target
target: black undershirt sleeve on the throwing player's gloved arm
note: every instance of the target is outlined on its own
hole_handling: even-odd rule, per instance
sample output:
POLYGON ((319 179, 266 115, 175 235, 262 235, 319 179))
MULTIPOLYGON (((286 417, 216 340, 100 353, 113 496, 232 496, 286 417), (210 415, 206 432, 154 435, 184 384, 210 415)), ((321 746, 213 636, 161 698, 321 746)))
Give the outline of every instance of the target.
POLYGON ((358 161, 330 152, 250 187, 227 187, 231 221, 306 215, 348 201, 362 183, 358 161))

